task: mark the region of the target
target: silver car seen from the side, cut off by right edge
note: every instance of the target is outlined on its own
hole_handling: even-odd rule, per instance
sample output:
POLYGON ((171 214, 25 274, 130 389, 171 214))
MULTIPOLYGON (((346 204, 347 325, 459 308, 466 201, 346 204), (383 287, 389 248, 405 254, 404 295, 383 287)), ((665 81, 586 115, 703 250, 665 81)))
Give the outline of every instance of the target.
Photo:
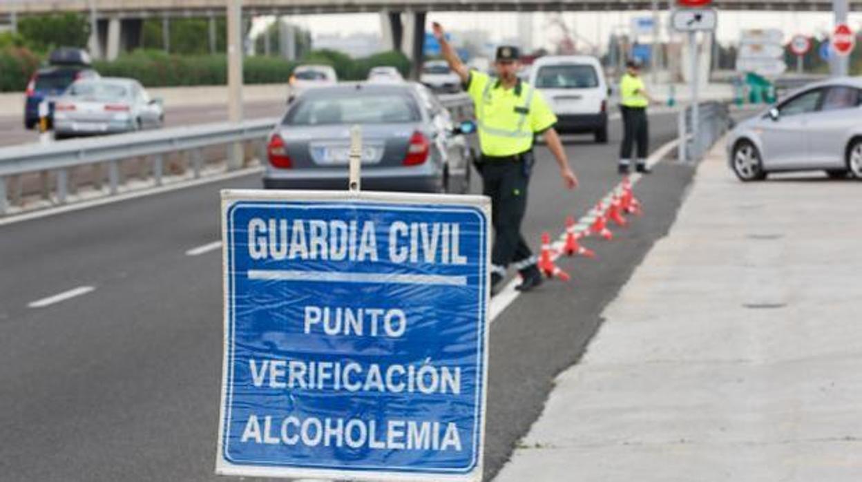
POLYGON ((862 78, 831 79, 796 91, 740 122, 727 151, 731 169, 743 181, 810 170, 862 178, 862 78))

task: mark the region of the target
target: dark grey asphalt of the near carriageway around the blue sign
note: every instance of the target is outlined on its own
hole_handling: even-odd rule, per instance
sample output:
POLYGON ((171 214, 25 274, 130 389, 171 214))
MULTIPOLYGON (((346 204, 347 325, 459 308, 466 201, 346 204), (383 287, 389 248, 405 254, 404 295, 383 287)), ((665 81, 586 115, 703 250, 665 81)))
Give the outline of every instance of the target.
MULTIPOLYGON (((653 116, 653 148, 675 135, 674 119, 653 116)), ((543 230, 559 234, 565 216, 583 215, 618 182, 618 121, 610 134, 605 146, 567 143, 577 191, 563 190, 539 147, 524 225, 535 247, 543 230)), ((635 189, 645 216, 614 241, 586 241, 597 260, 561 260, 571 282, 517 298, 491 325, 485 479, 665 235, 692 172, 657 166, 635 189)), ((220 479, 221 257, 185 252, 218 240, 220 189, 257 186, 259 178, 237 178, 0 227, 0 479, 220 479), (28 307, 81 286, 93 291, 28 307)))

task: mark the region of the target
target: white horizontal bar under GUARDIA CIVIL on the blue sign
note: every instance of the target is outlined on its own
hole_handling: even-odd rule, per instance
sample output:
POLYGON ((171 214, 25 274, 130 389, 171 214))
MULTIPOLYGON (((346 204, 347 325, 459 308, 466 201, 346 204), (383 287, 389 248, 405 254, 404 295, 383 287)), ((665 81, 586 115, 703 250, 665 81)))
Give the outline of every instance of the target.
POLYGON ((322 281, 340 283, 400 283, 403 285, 467 285, 466 276, 447 276, 438 274, 397 274, 388 272, 248 270, 248 279, 265 279, 268 281, 322 281))

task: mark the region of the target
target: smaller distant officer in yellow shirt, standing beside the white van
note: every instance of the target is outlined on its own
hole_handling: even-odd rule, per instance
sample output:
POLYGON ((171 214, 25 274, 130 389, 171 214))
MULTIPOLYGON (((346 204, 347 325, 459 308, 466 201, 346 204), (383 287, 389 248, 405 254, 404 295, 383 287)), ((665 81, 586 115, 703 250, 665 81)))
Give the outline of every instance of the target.
POLYGON ((649 148, 649 126, 647 124, 647 106, 652 102, 647 94, 644 81, 640 78, 640 66, 635 60, 628 60, 626 73, 620 80, 620 109, 622 110, 622 145, 620 146, 620 163, 617 171, 627 174, 631 166, 634 143, 638 145, 638 159, 635 164, 637 172, 649 172, 647 166, 647 151, 649 148))

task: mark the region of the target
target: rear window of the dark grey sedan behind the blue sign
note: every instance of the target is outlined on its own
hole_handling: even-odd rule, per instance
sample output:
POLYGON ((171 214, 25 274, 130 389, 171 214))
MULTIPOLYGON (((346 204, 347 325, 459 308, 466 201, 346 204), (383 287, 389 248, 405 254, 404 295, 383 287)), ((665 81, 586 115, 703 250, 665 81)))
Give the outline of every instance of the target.
POLYGON ((419 110, 407 94, 389 92, 328 94, 306 97, 291 109, 284 124, 316 126, 328 124, 383 124, 419 121, 419 110))

